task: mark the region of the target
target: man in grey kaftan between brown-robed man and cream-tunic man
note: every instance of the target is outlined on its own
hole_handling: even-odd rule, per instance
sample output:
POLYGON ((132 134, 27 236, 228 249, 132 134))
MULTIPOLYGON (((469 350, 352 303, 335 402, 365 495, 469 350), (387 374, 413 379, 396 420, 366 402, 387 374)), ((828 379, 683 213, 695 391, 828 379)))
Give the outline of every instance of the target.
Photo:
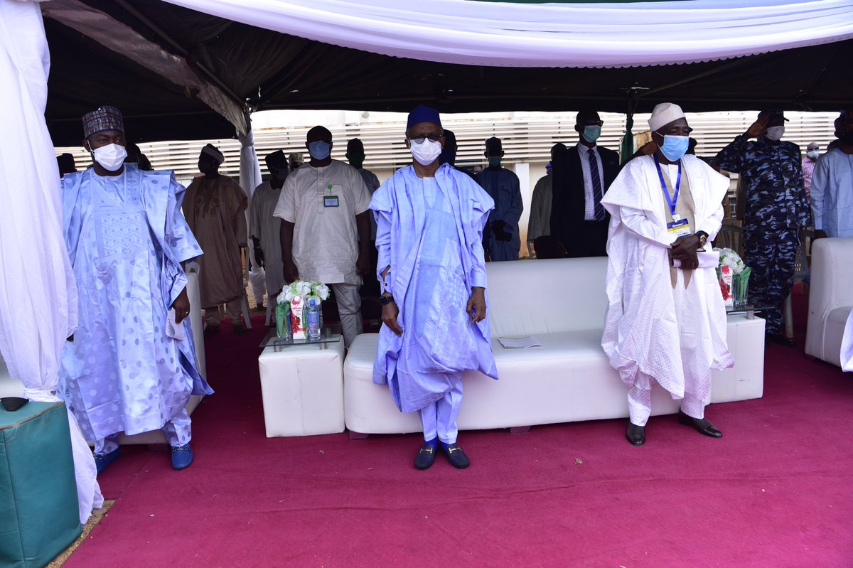
POLYGON ((283 265, 281 264, 281 219, 276 217, 281 187, 287 180, 287 156, 281 150, 264 159, 270 170, 270 179, 258 185, 252 194, 249 208, 249 236, 255 249, 255 260, 266 274, 267 301, 276 305, 276 295, 284 287, 283 265))

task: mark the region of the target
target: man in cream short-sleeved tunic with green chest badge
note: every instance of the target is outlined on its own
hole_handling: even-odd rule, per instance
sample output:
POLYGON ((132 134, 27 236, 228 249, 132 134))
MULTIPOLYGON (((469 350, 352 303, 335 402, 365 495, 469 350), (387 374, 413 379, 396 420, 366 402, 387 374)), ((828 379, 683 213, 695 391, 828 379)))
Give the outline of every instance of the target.
POLYGON ((363 332, 358 287, 368 270, 370 192, 358 171, 332 159, 332 133, 308 130, 311 159, 287 176, 273 213, 281 218, 284 280, 319 281, 338 300, 344 344, 363 332))

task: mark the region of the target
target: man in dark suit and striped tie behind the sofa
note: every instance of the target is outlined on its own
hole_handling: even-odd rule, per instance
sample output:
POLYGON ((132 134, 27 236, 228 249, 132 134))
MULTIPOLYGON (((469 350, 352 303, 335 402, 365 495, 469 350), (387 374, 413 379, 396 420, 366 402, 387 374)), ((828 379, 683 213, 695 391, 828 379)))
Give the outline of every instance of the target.
POLYGON ((577 146, 554 156, 551 236, 566 257, 606 255, 610 215, 601 197, 619 173, 619 154, 595 143, 602 124, 595 111, 577 113, 577 146))

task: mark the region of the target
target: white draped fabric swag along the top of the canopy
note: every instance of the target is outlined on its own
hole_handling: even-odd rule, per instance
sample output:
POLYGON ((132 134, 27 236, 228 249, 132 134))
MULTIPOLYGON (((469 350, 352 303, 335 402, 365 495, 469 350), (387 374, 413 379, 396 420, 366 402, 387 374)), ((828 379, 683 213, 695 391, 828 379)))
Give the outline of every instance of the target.
POLYGON ((710 61, 853 38, 850 0, 165 0, 383 55, 491 67, 710 61))

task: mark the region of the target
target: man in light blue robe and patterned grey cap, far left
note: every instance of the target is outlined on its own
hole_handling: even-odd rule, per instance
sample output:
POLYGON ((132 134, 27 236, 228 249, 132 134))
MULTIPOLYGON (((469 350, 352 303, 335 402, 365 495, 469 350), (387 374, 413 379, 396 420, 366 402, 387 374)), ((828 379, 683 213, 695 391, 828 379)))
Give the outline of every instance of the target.
POLYGON ((201 249, 181 215, 184 188, 171 171, 123 165, 119 110, 84 116, 95 164, 62 178, 63 229, 79 293, 78 329, 62 354, 58 390, 102 472, 119 433, 163 429, 172 467, 193 460, 191 394, 200 376, 181 263, 201 249), (171 312, 170 312, 171 308, 171 312))

